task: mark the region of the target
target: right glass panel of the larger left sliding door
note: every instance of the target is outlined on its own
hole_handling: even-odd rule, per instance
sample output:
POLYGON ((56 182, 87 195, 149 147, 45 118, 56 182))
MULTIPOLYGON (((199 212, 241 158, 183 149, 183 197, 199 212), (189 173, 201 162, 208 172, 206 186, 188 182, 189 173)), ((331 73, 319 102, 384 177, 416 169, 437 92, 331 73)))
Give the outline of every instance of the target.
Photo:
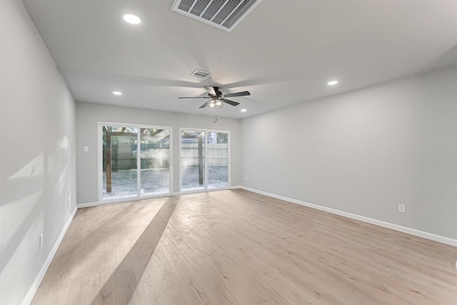
POLYGON ((140 184, 140 196, 169 194, 169 129, 140 129, 140 184))

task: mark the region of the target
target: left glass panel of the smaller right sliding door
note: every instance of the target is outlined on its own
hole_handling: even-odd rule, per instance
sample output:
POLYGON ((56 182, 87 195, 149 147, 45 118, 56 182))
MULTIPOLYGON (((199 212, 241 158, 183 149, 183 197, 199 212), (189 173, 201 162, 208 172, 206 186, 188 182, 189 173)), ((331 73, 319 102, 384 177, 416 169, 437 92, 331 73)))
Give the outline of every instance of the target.
POLYGON ((204 131, 181 131, 181 191, 205 189, 204 138, 204 131))

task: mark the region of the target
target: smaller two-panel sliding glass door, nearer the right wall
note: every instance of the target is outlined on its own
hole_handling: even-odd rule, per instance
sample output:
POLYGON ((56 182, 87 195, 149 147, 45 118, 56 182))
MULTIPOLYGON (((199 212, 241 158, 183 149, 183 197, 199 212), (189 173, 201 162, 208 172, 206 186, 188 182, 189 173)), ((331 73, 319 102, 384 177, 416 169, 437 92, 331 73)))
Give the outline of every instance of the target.
POLYGON ((228 131, 181 129, 181 191, 230 186, 229 135, 228 131))

